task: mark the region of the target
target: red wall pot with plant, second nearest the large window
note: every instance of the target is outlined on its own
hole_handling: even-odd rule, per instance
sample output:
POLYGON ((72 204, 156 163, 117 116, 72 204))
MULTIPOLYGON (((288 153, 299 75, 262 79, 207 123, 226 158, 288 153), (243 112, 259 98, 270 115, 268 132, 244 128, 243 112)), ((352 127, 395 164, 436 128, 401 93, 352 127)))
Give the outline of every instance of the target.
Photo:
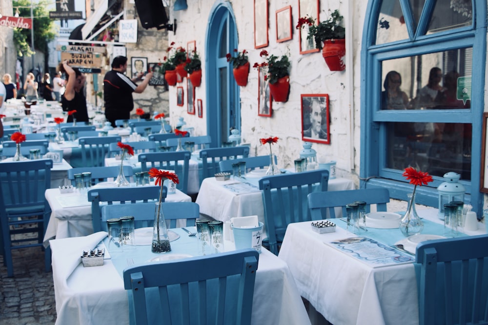
POLYGON ((266 80, 269 80, 269 92, 274 101, 286 102, 290 91, 289 68, 290 61, 287 56, 278 58, 268 54, 266 50, 261 51, 261 57, 266 57, 266 62, 262 64, 254 63, 254 68, 267 67, 266 80))

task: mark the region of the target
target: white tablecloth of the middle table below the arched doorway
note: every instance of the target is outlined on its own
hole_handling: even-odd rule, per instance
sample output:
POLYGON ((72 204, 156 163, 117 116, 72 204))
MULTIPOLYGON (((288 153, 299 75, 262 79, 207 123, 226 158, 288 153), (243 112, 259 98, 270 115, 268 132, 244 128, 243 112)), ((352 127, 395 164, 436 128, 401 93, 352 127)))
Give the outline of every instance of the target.
MULTIPOLYGON (((205 178, 196 200, 200 206, 200 213, 224 222, 232 217, 257 215, 258 220, 265 224, 261 191, 236 194, 223 186, 234 182, 232 178, 228 181, 218 181, 215 177, 205 178)), ((353 189, 354 183, 350 179, 335 178, 328 182, 328 191, 353 189)))

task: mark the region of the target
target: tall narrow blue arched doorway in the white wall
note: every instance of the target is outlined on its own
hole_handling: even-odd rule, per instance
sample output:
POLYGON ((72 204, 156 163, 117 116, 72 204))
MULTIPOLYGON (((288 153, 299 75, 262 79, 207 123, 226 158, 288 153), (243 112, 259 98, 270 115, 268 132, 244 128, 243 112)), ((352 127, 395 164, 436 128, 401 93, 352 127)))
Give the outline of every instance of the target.
POLYGON ((227 1, 216 1, 205 37, 207 134, 212 147, 227 141, 230 130, 240 129, 241 102, 239 86, 225 55, 237 48, 237 29, 232 7, 227 1))

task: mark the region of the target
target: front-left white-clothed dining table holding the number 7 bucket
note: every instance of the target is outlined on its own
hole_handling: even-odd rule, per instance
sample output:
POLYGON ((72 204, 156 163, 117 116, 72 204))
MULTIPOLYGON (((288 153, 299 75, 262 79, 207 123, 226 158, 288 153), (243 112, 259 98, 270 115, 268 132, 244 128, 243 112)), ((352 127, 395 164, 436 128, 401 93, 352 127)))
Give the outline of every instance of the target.
MULTIPOLYGON (((196 231, 195 227, 189 229, 196 231)), ((152 235, 152 228, 148 230, 152 235)), ((129 302, 122 279, 124 268, 142 263, 171 263, 168 262, 171 258, 199 255, 196 236, 188 236, 181 228, 168 231, 172 232, 170 238, 174 239, 170 243, 171 252, 152 253, 151 236, 148 242, 142 241, 134 250, 107 256, 105 249, 103 265, 96 267, 83 267, 81 255, 89 249, 106 247, 106 232, 51 240, 56 325, 128 325, 129 302), (160 262, 153 262, 155 259, 160 262)), ((137 236, 136 232, 136 241, 137 236)), ((227 240, 224 248, 225 251, 235 249, 234 244, 227 240)), ((156 308, 158 303, 148 301, 148 304, 156 308)), ((264 248, 256 271, 251 324, 310 324, 286 263, 264 248)))

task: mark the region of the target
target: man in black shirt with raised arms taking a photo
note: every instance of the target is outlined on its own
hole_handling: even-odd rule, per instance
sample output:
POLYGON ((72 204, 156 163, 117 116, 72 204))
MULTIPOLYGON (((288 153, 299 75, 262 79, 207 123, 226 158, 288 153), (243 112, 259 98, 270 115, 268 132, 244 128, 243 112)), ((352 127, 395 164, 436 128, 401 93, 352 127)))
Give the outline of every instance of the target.
POLYGON ((115 127, 115 120, 129 119, 130 111, 134 109, 132 93, 141 94, 146 89, 152 72, 149 72, 140 85, 135 82, 141 80, 143 73, 129 79, 125 76, 127 71, 127 57, 115 57, 112 61, 112 70, 103 77, 103 97, 105 100, 105 117, 115 127))

